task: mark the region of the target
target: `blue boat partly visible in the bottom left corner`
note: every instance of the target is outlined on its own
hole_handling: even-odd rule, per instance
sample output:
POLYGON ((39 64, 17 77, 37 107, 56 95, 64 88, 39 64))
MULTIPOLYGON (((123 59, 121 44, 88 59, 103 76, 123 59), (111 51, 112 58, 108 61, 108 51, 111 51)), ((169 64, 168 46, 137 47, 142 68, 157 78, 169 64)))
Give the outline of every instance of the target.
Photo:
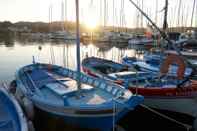
POLYGON ((0 131, 28 131, 19 103, 4 86, 0 87, 0 131))

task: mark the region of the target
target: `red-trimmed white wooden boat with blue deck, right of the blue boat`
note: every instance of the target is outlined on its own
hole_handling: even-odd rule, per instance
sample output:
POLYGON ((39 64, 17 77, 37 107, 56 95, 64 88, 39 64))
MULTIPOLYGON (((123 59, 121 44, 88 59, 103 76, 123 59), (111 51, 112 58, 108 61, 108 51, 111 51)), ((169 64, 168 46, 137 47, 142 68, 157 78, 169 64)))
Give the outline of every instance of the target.
MULTIPOLYGON (((178 57, 175 58, 171 60, 177 61, 179 59, 178 57)), ((197 81, 184 77, 184 69, 178 70, 177 77, 180 77, 182 73, 180 78, 168 75, 158 77, 147 72, 133 72, 129 70, 127 72, 117 70, 109 74, 105 72, 100 73, 101 70, 98 67, 102 68, 107 61, 95 57, 86 58, 82 62, 83 70, 92 76, 111 79, 111 81, 123 85, 132 92, 143 95, 145 97, 144 104, 147 106, 197 117, 197 81)), ((116 65, 117 63, 110 61, 108 64, 116 65)), ((180 63, 177 62, 177 64, 180 63)), ((181 62, 180 66, 182 64, 184 62, 181 62)), ((122 66, 124 67, 124 65, 122 66)), ((164 67, 168 68, 169 65, 164 67)))

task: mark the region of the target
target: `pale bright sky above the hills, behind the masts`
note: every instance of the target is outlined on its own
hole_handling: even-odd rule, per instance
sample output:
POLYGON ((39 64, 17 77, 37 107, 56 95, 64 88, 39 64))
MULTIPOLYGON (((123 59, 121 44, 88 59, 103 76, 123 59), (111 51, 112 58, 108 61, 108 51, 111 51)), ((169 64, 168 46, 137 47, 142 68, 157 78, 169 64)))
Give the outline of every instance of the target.
MULTIPOLYGON (((161 10, 164 8, 165 0, 133 1, 136 3, 143 2, 143 10, 153 21, 159 26, 162 26, 163 12, 161 12, 161 10), (158 3, 157 11, 156 3, 158 3)), ((177 24, 186 26, 191 25, 193 1, 194 0, 169 0, 168 23, 170 26, 175 26, 177 24), (180 1, 182 1, 181 11, 178 13, 178 5, 180 1)), ((139 27, 147 25, 145 18, 141 17, 129 0, 79 0, 79 2, 80 21, 82 23, 102 25, 105 23, 105 25, 121 25, 123 27, 139 27), (107 3, 105 6, 106 10, 104 9, 105 1, 107 3), (106 19, 106 22, 104 22, 104 18, 106 19)), ((52 8, 52 21, 60 21, 63 19, 75 21, 75 0, 0 0, 0 21, 49 22, 50 7, 52 8), (62 3, 64 4, 64 18, 62 17, 62 3)), ((192 22, 193 26, 197 26, 196 8, 197 1, 192 22)))

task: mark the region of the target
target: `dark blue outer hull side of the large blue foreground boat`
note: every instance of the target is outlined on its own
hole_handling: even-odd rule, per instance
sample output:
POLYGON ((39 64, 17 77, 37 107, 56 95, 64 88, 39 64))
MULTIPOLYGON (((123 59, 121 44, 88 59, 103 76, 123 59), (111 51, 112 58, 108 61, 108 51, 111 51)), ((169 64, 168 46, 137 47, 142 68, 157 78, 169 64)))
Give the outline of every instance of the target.
MULTIPOLYGON (((121 119, 125 114, 130 111, 129 108, 122 108, 118 111, 117 109, 114 109, 114 114, 116 114, 115 116, 114 114, 90 114, 80 116, 75 114, 75 111, 72 109, 65 111, 62 108, 48 106, 39 102, 35 102, 34 104, 41 111, 56 118, 63 119, 67 124, 76 125, 83 128, 100 129, 102 131, 110 131, 113 128, 114 123, 116 123, 119 119, 121 119), (92 122, 94 122, 94 124, 91 124, 92 122)), ((116 107, 116 105, 114 107, 116 107)))

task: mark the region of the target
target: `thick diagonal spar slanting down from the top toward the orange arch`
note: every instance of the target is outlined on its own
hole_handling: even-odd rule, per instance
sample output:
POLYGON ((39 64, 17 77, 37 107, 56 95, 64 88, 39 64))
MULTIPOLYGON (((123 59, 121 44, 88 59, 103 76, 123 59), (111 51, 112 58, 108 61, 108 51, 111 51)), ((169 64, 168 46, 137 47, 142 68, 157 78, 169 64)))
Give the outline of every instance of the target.
POLYGON ((132 0, 129 0, 143 15, 144 17, 155 27, 156 30, 159 31, 159 33, 161 34, 161 36, 167 41, 167 44, 169 45, 169 47, 172 47, 177 53, 178 55, 188 64, 188 66, 190 66, 192 68, 192 73, 190 76, 188 77, 192 77, 194 75, 195 72, 197 72, 196 68, 194 65, 191 64, 190 61, 188 61, 181 53, 181 51, 174 45, 174 43, 169 39, 169 37, 166 35, 166 33, 164 31, 162 31, 148 16, 147 14, 141 10, 135 2, 133 2, 132 0))

